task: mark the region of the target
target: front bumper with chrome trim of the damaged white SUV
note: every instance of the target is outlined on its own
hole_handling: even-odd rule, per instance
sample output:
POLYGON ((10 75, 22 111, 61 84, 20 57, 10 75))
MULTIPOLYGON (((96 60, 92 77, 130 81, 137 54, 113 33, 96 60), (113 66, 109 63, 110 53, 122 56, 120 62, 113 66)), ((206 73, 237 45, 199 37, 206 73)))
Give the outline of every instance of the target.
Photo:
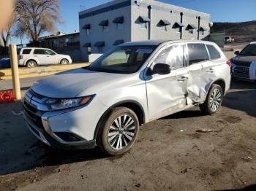
POLYGON ((96 146, 95 130, 105 106, 97 98, 87 106, 48 112, 45 97, 32 90, 23 98, 24 119, 37 139, 50 147, 91 149, 96 146))

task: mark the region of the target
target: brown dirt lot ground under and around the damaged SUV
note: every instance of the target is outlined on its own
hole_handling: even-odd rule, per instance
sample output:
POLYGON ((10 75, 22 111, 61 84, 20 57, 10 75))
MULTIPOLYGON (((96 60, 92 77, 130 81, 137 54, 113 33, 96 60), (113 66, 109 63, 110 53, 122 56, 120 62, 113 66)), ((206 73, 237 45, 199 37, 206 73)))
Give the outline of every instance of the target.
POLYGON ((0 105, 0 190, 256 190, 255 84, 233 82, 213 116, 195 107, 143 125, 120 157, 48 149, 20 110, 0 105))

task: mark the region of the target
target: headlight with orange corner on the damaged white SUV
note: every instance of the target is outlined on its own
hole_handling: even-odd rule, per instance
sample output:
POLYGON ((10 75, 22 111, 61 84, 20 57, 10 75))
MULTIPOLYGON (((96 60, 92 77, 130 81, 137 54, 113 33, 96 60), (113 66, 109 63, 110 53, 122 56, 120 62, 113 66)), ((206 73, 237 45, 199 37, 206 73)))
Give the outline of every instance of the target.
POLYGON ((45 104, 51 111, 60 110, 60 109, 69 109, 78 106, 85 106, 89 104, 90 101, 94 98, 94 95, 89 95, 82 98, 48 98, 45 101, 45 104))

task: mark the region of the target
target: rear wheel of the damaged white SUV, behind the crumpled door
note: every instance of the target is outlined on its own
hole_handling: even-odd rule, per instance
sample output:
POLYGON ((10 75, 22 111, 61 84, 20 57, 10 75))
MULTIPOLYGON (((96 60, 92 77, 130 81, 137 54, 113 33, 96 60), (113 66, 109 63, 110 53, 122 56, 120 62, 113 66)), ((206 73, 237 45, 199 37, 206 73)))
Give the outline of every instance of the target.
POLYGON ((220 106, 222 105, 222 100, 223 100, 222 87, 214 84, 211 86, 211 89, 208 92, 206 101, 203 104, 200 104, 199 107, 204 114, 215 114, 216 112, 218 112, 220 106), (218 95, 217 98, 214 98, 214 92, 217 93, 218 95), (214 103, 213 103, 213 100, 214 100, 214 103), (217 108, 214 109, 214 107, 217 107, 217 108))

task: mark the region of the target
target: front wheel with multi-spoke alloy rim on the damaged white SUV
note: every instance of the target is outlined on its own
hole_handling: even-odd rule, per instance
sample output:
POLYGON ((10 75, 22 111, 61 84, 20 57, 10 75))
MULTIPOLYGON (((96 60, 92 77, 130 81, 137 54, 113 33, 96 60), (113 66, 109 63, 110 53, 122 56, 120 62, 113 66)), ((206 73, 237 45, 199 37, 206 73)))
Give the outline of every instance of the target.
POLYGON ((132 145, 135 143, 138 136, 138 131, 139 121, 135 112, 126 107, 117 107, 113 109, 113 111, 111 111, 110 114, 108 114, 108 116, 106 116, 102 121, 102 124, 99 127, 99 133, 97 135, 97 146, 108 155, 122 155, 124 152, 127 152, 132 148, 132 145), (125 115, 127 117, 125 117, 125 115), (123 129, 122 131, 120 128, 118 129, 118 125, 116 125, 115 122, 115 120, 118 120, 118 117, 121 117, 121 124, 122 122, 124 123, 121 125, 123 129), (130 121, 132 122, 131 125, 129 125, 129 120, 132 120, 130 121), (126 125, 127 128, 125 128, 126 125), (115 128, 115 130, 113 130, 113 128, 115 128), (110 136, 111 133, 116 135, 110 136), (127 135, 127 133, 129 133, 129 135, 127 135), (132 133, 132 139, 129 140, 132 133), (121 139, 121 143, 119 139, 121 139), (111 144, 113 144, 113 146, 111 146, 111 144), (123 145, 126 146, 121 148, 123 145), (113 147, 116 147, 116 149, 113 147))

